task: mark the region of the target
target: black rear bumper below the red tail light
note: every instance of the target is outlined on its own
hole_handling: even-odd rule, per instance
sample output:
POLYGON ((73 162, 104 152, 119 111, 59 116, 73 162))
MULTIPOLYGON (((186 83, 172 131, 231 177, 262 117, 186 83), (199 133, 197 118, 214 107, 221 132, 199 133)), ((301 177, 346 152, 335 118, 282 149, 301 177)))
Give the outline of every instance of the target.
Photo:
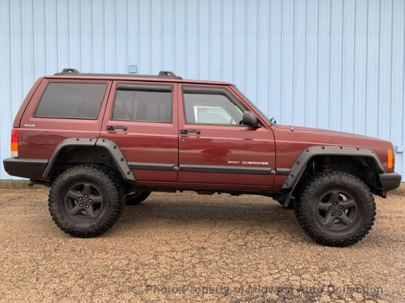
POLYGON ((5 171, 12 176, 42 180, 42 172, 47 166, 48 159, 8 158, 3 160, 5 171))

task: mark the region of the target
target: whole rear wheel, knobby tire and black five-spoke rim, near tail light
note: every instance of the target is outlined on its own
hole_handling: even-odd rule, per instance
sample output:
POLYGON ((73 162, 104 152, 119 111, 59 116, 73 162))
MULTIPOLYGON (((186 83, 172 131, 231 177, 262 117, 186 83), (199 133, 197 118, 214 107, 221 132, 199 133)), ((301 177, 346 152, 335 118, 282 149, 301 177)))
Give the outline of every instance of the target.
POLYGON ((125 206, 119 182, 100 168, 80 165, 58 176, 49 193, 52 219, 65 233, 95 237, 107 231, 125 206))

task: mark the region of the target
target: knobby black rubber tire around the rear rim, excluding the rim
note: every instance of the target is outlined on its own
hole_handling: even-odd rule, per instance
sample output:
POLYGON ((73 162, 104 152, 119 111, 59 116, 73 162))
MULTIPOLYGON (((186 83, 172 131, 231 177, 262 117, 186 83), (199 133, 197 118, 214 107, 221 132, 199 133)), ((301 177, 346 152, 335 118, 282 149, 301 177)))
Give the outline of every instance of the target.
POLYGON ((80 165, 67 169, 53 182, 48 199, 49 212, 56 225, 65 233, 80 238, 96 237, 107 231, 121 216, 125 207, 124 188, 106 168, 80 165), (103 208, 88 222, 71 218, 65 207, 65 195, 73 184, 87 182, 97 186, 103 208))

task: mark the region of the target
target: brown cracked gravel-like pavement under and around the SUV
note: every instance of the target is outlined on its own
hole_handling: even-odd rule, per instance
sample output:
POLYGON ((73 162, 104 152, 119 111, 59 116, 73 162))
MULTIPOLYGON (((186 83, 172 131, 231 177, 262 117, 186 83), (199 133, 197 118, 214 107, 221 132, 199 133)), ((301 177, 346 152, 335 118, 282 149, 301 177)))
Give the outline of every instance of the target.
POLYGON ((320 246, 270 198, 152 194, 93 239, 51 220, 47 190, 0 190, 0 301, 378 301, 405 297, 405 195, 371 233, 320 246))

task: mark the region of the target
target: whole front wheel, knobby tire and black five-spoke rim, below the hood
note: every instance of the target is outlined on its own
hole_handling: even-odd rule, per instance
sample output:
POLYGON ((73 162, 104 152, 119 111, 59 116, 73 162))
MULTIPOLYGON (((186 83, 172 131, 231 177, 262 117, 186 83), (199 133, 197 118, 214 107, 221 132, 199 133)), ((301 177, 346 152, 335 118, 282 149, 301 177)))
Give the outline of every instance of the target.
POLYGON ((340 171, 315 176, 298 203, 296 216, 304 231, 328 246, 349 246, 365 237, 374 223, 376 204, 369 187, 340 171))

